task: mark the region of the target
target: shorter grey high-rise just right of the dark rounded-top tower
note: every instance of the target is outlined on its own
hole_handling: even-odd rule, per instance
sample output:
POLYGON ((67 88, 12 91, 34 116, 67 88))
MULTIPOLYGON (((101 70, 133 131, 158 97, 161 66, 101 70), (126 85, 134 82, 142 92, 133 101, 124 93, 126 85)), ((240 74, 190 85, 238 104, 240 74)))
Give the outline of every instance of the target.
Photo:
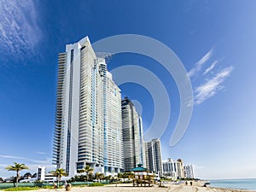
POLYGON ((146 167, 160 176, 163 173, 160 139, 144 143, 146 167))

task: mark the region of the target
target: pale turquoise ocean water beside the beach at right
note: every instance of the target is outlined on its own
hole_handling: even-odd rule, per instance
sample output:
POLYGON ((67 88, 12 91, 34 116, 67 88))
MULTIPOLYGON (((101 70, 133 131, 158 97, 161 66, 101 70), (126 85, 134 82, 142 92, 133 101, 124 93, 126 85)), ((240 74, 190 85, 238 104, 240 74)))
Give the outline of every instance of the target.
POLYGON ((211 180, 209 186, 230 189, 256 190, 256 178, 211 180))

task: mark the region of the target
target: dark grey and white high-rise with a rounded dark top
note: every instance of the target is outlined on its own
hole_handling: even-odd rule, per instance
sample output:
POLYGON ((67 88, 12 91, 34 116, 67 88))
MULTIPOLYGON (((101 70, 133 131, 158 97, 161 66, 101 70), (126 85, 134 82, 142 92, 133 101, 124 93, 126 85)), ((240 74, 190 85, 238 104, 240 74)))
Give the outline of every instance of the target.
POLYGON ((125 172, 143 164, 143 121, 128 97, 122 100, 125 172))

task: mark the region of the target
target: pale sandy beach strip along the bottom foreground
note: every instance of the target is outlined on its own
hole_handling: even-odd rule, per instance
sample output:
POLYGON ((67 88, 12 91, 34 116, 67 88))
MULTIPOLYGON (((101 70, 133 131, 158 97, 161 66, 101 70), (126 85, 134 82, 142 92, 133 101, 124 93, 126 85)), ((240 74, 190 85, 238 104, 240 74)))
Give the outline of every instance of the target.
MULTIPOLYGON (((54 189, 39 189, 37 192, 55 192, 54 189)), ((27 192, 35 192, 27 191, 27 192)), ((57 189, 59 192, 64 192, 65 189, 57 189)), ((153 187, 133 187, 132 184, 110 184, 103 187, 73 187, 73 192, 125 192, 125 191, 144 191, 144 192, 252 192, 245 189, 220 189, 213 187, 202 187, 202 183, 194 183, 193 186, 185 184, 165 184, 165 187, 160 188, 157 185, 153 187)), ((25 191, 26 192, 26 191, 25 191)), ((255 191, 256 192, 256 191, 255 191)))

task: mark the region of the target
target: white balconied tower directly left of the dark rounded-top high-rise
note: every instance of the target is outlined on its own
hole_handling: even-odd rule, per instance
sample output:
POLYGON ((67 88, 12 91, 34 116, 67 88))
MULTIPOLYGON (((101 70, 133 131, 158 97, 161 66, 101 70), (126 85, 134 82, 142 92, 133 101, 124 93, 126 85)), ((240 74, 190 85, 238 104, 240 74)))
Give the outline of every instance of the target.
POLYGON ((121 95, 111 73, 104 77, 103 90, 104 172, 120 172, 124 168, 121 95))

